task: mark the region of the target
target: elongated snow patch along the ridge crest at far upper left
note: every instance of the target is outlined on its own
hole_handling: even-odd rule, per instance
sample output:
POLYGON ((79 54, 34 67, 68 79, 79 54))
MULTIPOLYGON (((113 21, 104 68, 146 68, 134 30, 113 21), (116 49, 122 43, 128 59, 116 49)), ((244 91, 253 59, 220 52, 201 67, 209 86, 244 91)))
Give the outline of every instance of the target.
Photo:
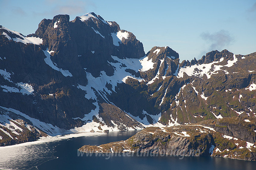
POLYGON ((19 32, 12 31, 12 30, 10 30, 8 28, 5 28, 5 27, 2 27, 2 28, 0 27, 0 29, 5 29, 10 34, 15 34, 14 36, 16 38, 11 38, 6 32, 3 32, 2 34, 5 35, 5 37, 7 37, 8 40, 13 40, 13 41, 16 41, 16 42, 21 42, 23 44, 31 43, 31 44, 39 45, 39 44, 43 43, 43 40, 41 38, 39 38, 39 37, 25 37, 24 35, 20 34, 19 32))

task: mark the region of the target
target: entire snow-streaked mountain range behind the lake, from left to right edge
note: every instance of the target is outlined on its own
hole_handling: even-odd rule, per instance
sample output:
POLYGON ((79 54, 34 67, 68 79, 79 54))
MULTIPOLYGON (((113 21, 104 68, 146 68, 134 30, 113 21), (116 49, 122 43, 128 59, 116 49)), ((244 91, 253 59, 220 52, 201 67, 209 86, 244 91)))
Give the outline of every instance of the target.
POLYGON ((168 46, 145 54, 133 33, 95 13, 43 19, 27 36, 0 26, 0 57, 1 145, 256 113, 256 53, 180 63, 168 46))

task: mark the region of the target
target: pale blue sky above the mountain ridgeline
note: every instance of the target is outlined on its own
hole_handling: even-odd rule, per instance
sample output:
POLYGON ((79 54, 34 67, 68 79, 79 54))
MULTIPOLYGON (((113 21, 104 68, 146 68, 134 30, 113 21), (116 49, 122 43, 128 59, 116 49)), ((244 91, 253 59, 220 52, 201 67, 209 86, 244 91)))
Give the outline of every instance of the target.
POLYGON ((72 20, 88 12, 132 32, 145 53, 169 46, 182 61, 216 49, 242 55, 256 51, 255 0, 0 0, 0 25, 27 35, 44 18, 68 14, 72 20))

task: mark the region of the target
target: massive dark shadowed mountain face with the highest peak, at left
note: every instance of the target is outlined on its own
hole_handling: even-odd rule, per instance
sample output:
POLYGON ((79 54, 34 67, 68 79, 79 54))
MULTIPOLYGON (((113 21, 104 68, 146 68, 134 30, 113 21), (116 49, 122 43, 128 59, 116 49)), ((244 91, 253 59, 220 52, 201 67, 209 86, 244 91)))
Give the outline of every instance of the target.
MULTIPOLYGON (((117 61, 111 55, 119 54, 120 58, 141 58, 145 55, 142 43, 132 33, 121 31, 116 22, 106 22, 95 13, 76 17, 72 21, 69 21, 68 15, 43 19, 36 33, 27 37, 4 27, 0 31, 0 93, 6 99, 1 100, 0 106, 19 110, 64 129, 91 122, 92 116, 84 118, 84 115, 97 110, 98 104, 93 104, 95 99, 106 102, 101 92, 97 91, 98 98, 85 97, 89 93, 85 90, 88 75, 90 79, 95 79, 103 71, 106 76, 113 76, 114 67, 109 62, 117 61), (117 37, 118 32, 127 33, 128 39, 117 37), (17 40, 17 37, 21 39, 17 40), (22 38, 37 38, 41 42, 24 43, 22 38), (114 45, 116 41, 119 46, 114 45), (131 53, 126 55, 122 50, 131 53), (19 86, 19 82, 23 83, 19 86), (27 88, 30 92, 26 92, 27 88)), ((89 88, 95 93, 95 87, 89 88)), ((141 125, 137 122, 136 126, 141 125)))

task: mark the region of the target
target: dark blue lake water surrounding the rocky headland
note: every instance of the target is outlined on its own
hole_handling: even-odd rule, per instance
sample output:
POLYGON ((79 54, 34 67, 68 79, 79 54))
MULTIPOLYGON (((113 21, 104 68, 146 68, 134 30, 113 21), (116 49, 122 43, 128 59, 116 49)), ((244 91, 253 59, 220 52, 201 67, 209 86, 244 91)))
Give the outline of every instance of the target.
MULTIPOLYGON (((111 132, 100 136, 76 137, 58 141, 44 142, 0 150, 8 160, 0 160, 0 169, 173 169, 173 170, 255 170, 255 161, 233 160, 216 157, 174 157, 174 156, 140 156, 136 153, 131 157, 118 154, 86 156, 77 151, 83 145, 101 145, 104 143, 126 140, 136 131, 111 132), (10 152, 20 152, 10 156, 10 152), (26 153, 26 154, 25 154, 26 153), (22 155, 24 154, 24 155, 22 155), (79 156, 78 156, 79 154, 79 156), (15 160, 16 159, 16 160, 15 160)), ((130 156, 130 155, 128 155, 130 156)))

